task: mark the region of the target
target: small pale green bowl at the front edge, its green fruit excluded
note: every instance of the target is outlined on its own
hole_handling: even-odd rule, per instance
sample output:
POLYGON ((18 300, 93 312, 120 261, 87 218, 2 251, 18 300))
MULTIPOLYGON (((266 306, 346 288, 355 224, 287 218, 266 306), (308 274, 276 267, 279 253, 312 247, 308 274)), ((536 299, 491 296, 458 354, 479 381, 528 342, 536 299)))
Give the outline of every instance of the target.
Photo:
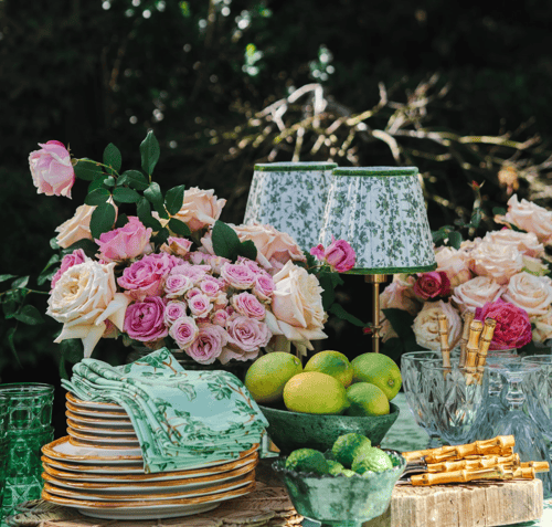
POLYGON ((406 460, 386 450, 393 468, 380 473, 347 477, 299 473, 285 467, 286 460, 273 463, 282 476, 296 510, 323 526, 361 527, 381 516, 389 507, 393 487, 406 466, 406 460))

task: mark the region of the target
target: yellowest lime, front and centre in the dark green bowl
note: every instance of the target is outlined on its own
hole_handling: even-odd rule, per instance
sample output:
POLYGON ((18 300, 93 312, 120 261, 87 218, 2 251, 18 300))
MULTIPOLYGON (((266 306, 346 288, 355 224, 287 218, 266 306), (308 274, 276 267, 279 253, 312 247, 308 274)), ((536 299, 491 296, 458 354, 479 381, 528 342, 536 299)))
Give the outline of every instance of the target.
POLYGON ((306 371, 284 387, 284 404, 291 412, 339 414, 349 407, 343 384, 331 376, 306 371))

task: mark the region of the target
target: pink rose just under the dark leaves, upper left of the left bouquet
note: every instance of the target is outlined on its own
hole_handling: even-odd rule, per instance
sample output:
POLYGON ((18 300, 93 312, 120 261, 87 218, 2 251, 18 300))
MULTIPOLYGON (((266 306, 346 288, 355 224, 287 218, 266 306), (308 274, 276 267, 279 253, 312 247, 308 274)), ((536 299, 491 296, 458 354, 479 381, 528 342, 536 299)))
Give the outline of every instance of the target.
POLYGON ((99 255, 106 262, 130 260, 145 253, 149 246, 152 230, 146 229, 137 217, 128 217, 128 222, 118 229, 104 232, 96 243, 99 245, 99 255))

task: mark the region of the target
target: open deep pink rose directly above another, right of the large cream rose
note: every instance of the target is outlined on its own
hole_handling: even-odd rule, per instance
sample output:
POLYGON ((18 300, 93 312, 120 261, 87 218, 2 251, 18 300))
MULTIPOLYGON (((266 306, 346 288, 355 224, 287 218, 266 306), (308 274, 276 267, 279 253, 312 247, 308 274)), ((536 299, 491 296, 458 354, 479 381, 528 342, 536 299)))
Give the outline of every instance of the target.
POLYGON ((167 253, 148 254, 126 267, 123 276, 117 278, 117 284, 127 289, 125 294, 137 301, 158 296, 162 292, 164 278, 178 263, 179 259, 167 253))

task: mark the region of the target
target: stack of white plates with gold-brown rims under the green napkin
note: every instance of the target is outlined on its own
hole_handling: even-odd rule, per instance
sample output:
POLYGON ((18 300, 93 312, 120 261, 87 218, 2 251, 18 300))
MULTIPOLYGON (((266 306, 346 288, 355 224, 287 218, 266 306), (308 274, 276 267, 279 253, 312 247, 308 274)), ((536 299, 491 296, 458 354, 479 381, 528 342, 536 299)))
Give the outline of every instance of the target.
POLYGON ((145 474, 132 425, 117 404, 67 394, 68 436, 42 449, 46 500, 108 519, 199 514, 253 491, 258 445, 238 460, 145 474))

